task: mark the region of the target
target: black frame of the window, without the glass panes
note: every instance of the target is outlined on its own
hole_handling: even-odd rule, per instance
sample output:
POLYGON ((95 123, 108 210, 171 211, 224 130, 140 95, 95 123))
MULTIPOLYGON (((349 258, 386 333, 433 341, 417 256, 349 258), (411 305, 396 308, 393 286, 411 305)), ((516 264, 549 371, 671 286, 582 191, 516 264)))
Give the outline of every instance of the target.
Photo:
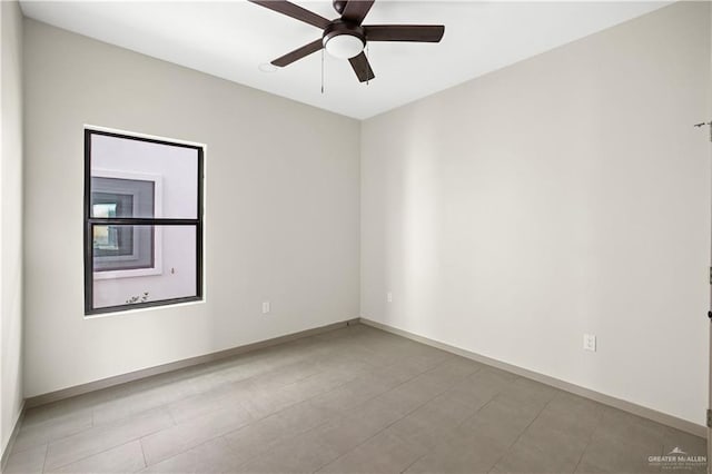
POLYGON ((146 138, 126 132, 113 132, 96 128, 85 128, 85 316, 92 316, 107 313, 119 313, 128 309, 148 308, 156 306, 169 306, 180 303, 202 300, 202 230, 204 230, 204 156, 205 148, 199 145, 188 145, 156 138, 146 138), (91 137, 102 135, 107 137, 123 138, 129 140, 147 141, 150 144, 168 145, 195 149, 198 152, 198 207, 197 216, 192 219, 186 218, 145 218, 145 217, 91 217, 91 137), (132 225, 132 226, 194 226, 196 228, 196 296, 161 299, 157 302, 127 303, 101 308, 93 307, 93 226, 110 225, 132 225))

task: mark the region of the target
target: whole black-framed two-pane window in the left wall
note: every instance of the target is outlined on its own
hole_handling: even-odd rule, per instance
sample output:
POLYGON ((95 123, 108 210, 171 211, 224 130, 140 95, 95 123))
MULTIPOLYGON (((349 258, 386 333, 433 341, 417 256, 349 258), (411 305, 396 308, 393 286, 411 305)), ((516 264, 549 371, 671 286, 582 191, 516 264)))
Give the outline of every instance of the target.
POLYGON ((85 130, 85 313, 202 298, 200 146, 85 130))

